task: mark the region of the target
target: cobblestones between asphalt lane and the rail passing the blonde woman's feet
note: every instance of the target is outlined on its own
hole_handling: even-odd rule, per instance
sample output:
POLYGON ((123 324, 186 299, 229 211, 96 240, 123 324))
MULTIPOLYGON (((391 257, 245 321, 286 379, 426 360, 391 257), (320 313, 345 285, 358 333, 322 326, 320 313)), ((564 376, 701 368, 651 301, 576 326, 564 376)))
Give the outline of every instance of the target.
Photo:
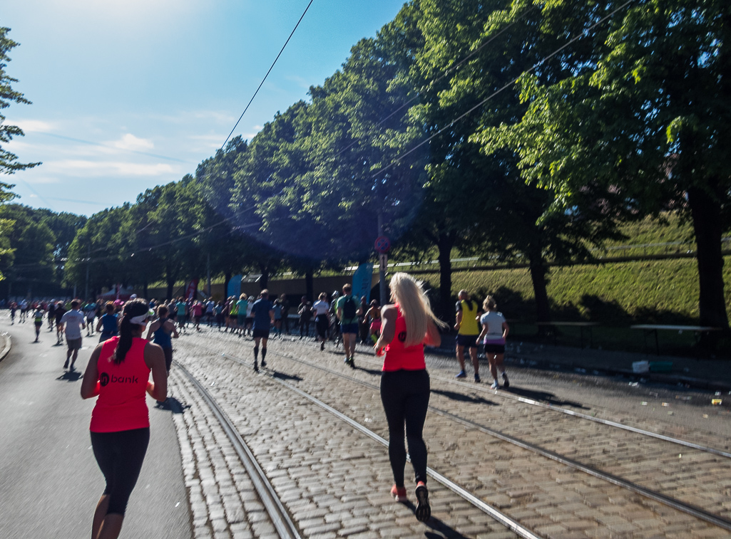
MULTIPOLYGON (((419 523, 413 506, 393 503, 388 495, 390 465, 379 443, 249 368, 190 352, 178 347, 176 360, 209 388, 232 419, 303 537, 516 537, 438 484, 430 485, 433 519, 419 523)), ((251 511, 257 514, 246 506, 249 482, 240 477, 243 469, 219 438, 219 427, 180 377, 172 376, 171 382, 173 394, 190 406, 176 424, 196 538, 270 536, 253 529, 261 506, 252 500, 251 511)))

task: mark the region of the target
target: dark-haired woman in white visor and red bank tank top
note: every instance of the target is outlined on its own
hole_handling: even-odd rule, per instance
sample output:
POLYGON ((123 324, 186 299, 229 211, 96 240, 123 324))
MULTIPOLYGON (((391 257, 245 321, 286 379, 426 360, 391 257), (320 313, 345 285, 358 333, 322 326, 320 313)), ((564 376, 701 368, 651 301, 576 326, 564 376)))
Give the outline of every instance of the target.
POLYGON ((141 338, 147 320, 144 300, 127 302, 119 336, 96 346, 81 383, 82 398, 99 396, 89 430, 94 457, 107 481, 91 525, 94 539, 115 539, 121 531, 150 441, 145 392, 156 400, 167 395, 162 348, 141 338))

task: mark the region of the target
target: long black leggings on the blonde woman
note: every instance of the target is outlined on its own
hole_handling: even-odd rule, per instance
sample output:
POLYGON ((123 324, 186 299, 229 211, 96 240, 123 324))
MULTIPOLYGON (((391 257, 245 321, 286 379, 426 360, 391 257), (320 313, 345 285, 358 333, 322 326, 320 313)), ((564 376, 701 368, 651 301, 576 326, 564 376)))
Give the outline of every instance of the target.
POLYGON ((426 444, 422 438, 429 407, 429 375, 422 371, 393 371, 381 375, 381 402, 388 422, 388 458, 393 480, 404 486, 406 447, 404 423, 417 483, 426 483, 426 444))

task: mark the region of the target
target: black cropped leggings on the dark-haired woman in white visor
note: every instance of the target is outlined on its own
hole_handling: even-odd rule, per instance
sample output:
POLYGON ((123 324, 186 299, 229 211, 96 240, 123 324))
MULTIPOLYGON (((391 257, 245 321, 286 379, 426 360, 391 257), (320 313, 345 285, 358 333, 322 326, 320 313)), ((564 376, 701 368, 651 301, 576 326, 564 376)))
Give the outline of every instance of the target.
POLYGON ((99 469, 107 481, 110 513, 124 515, 129 495, 137 484, 150 442, 150 427, 120 430, 117 433, 91 433, 91 447, 99 469))

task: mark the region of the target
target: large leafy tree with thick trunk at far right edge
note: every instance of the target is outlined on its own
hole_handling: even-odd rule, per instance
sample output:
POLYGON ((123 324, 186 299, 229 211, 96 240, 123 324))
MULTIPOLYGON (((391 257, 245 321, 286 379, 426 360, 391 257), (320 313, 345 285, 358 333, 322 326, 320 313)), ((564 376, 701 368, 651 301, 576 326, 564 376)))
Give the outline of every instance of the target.
MULTIPOLYGON (((582 20, 598 23, 619 7, 591 4, 582 20)), ((572 34, 574 9, 567 1, 544 8, 546 42, 572 34)), ((520 123, 481 136, 486 147, 497 137, 519 148, 523 176, 556 193, 558 212, 591 185, 607 194, 608 214, 674 209, 691 220, 700 323, 716 327, 728 327, 721 234, 731 228, 730 20, 723 1, 621 9, 577 42, 573 56, 523 77, 529 107, 520 123)))

